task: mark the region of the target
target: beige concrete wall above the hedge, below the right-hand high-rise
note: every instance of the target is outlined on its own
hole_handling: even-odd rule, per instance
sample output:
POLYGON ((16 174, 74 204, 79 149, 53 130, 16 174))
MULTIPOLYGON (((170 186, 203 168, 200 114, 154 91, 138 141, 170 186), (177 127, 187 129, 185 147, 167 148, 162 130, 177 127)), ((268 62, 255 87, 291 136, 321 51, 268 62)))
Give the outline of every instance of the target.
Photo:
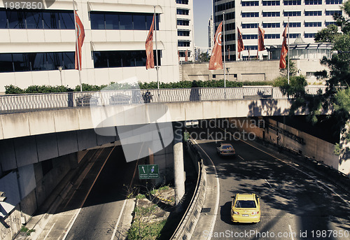
MULTIPOLYGON (((326 69, 320 64, 320 59, 293 59, 299 74, 314 73, 326 69)), ((230 68, 226 80, 232 81, 269 81, 281 76, 279 73, 279 60, 265 61, 237 61, 227 62, 226 68, 230 68)), ((223 79, 223 69, 209 70, 209 63, 182 64, 182 80, 220 80, 223 79), (214 76, 215 75, 215 78, 214 76)), ((307 77, 309 83, 314 83, 316 78, 307 77)))

